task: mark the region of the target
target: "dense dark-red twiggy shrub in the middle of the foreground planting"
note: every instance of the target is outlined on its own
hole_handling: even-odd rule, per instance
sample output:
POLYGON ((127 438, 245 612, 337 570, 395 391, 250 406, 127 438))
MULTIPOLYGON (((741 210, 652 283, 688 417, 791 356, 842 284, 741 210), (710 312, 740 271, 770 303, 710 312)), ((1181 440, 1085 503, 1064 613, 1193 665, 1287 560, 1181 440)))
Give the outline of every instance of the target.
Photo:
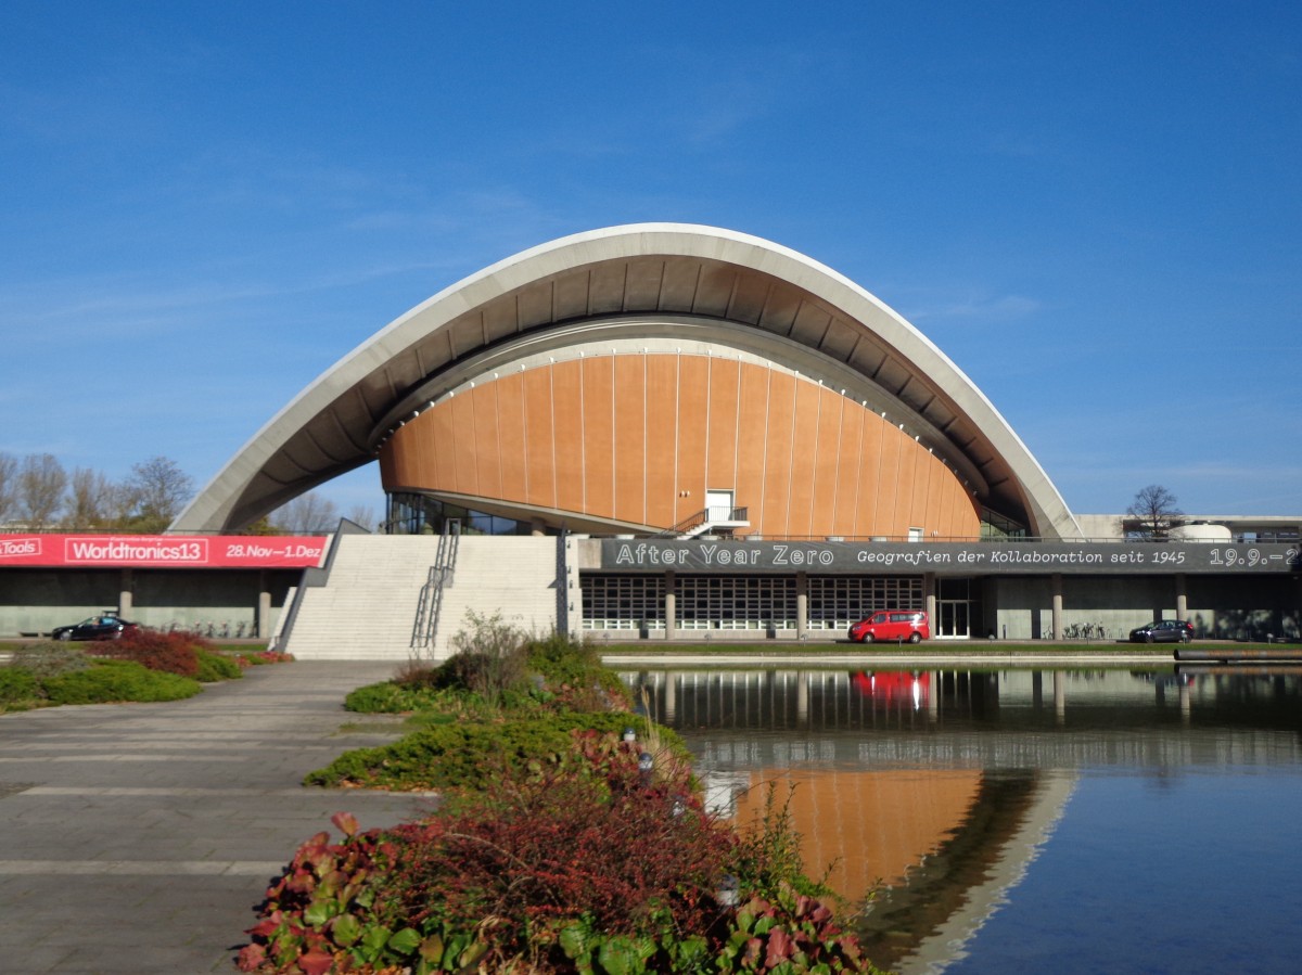
POLYGON ((376 899, 384 915, 443 940, 479 931, 488 970, 513 959, 573 967, 598 932, 656 941, 710 931, 732 836, 685 781, 650 781, 635 747, 603 741, 582 738, 579 764, 391 831, 402 854, 376 899))

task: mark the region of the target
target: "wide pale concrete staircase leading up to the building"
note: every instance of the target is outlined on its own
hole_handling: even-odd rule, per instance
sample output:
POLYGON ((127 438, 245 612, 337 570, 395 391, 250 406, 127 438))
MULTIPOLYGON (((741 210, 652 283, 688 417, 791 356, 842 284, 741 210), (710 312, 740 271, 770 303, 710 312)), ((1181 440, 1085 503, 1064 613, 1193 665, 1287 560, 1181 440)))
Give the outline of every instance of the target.
POLYGON ((500 613, 530 631, 556 624, 556 539, 464 535, 430 647, 411 647, 431 535, 340 535, 324 586, 306 586, 281 650, 299 660, 445 660, 466 614, 500 613))

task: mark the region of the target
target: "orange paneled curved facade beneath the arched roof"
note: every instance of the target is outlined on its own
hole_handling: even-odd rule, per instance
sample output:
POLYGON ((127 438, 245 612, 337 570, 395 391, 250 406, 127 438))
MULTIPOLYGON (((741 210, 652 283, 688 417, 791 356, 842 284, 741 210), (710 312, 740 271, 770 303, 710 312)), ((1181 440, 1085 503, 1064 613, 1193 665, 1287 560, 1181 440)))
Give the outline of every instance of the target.
POLYGON ((953 470, 836 391, 736 358, 587 357, 477 383, 384 445, 388 492, 667 529, 733 492, 769 538, 974 539, 953 470))

